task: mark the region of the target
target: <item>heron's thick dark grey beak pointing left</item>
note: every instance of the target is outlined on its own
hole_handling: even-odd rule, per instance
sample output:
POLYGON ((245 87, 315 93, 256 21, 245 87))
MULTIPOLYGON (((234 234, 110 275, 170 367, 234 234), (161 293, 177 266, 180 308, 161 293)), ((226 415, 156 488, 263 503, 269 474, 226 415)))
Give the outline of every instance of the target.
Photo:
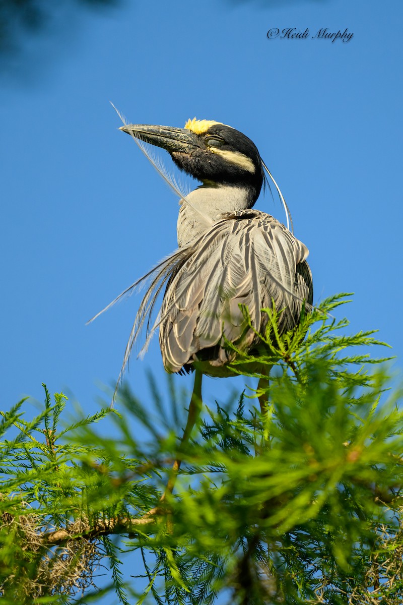
POLYGON ((171 126, 151 126, 148 124, 127 124, 119 130, 131 134, 136 139, 162 147, 170 153, 190 153, 200 146, 198 137, 187 128, 172 128, 171 126))

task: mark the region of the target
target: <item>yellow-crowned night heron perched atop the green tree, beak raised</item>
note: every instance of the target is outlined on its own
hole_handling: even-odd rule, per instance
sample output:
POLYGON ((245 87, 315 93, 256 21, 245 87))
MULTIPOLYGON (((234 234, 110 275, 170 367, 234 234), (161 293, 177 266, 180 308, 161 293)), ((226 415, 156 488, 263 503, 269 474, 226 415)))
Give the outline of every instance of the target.
POLYGON ((184 128, 131 124, 121 130, 166 149, 176 166, 202 183, 179 202, 178 250, 146 276, 150 286, 122 368, 148 318, 147 332, 160 328, 166 371, 196 369, 184 434, 188 439, 201 402, 202 374, 231 374, 228 362, 235 353, 225 341, 244 351, 259 349, 256 332, 262 333, 267 321, 263 307, 274 302, 277 310, 283 309, 278 326, 282 334, 298 324, 304 301, 312 304, 308 249, 275 218, 253 210, 266 166, 242 132, 196 119, 184 128), (150 313, 164 287, 160 313, 149 330, 150 313), (248 308, 256 332, 248 327, 240 304, 248 308))

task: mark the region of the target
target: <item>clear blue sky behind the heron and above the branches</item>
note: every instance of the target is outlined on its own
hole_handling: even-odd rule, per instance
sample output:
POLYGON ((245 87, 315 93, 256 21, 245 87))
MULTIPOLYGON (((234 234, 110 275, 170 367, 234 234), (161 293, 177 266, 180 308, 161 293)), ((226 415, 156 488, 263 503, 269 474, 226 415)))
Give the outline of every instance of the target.
MULTIPOLYGON (((399 0, 121 2, 32 39, 1 81, 1 408, 46 382, 94 411, 140 297, 86 320, 176 247, 177 200, 109 101, 133 123, 245 132, 310 250, 315 301, 355 292, 351 330, 379 329, 401 360, 402 16, 399 0), (289 27, 310 35, 266 36, 289 27), (353 37, 312 39, 324 27, 353 37)), ((256 208, 284 220, 268 194, 256 208)), ((158 338, 127 375, 143 401, 147 368, 164 381, 158 338)), ((208 379, 205 397, 242 385, 208 379)))

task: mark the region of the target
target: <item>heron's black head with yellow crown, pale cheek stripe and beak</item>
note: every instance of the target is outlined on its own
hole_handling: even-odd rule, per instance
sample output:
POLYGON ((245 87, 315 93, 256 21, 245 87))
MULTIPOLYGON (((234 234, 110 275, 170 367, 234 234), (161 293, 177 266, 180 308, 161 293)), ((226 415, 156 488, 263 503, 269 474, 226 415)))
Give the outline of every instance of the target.
POLYGON ((121 130, 171 155, 173 162, 204 185, 253 188, 254 201, 263 183, 256 145, 245 134, 213 120, 188 120, 184 128, 129 124, 121 130))

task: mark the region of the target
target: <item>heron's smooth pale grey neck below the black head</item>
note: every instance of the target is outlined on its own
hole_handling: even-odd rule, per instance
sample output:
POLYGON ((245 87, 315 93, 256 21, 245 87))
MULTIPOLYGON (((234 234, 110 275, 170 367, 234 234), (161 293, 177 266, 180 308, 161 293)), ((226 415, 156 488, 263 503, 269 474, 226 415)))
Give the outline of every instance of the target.
POLYGON ((256 191, 238 185, 203 185, 179 201, 178 244, 186 246, 225 212, 251 208, 256 191))

